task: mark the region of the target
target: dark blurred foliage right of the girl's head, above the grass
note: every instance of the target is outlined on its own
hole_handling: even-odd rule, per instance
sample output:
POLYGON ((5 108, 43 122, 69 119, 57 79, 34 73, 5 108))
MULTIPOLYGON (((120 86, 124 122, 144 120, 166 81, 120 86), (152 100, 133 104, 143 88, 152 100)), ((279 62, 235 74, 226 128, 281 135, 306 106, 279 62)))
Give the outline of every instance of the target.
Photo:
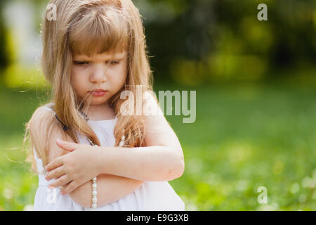
POLYGON ((172 77, 197 85, 308 74, 304 79, 315 81, 313 0, 138 0, 136 4, 144 15, 157 79, 172 77), (268 21, 257 19, 261 3, 268 6, 268 21))

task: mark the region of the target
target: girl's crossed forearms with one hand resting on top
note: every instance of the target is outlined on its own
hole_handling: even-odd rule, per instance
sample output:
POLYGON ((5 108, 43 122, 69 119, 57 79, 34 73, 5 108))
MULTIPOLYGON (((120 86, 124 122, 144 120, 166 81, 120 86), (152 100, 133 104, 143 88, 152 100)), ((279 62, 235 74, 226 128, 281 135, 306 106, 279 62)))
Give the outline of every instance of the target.
POLYGON ((178 155, 173 153, 171 148, 163 146, 129 150, 91 147, 70 142, 64 142, 59 146, 64 149, 70 148, 72 152, 53 160, 47 167, 51 172, 46 178, 64 177, 57 179, 52 185, 64 186, 68 183, 62 192, 69 193, 75 202, 84 207, 91 206, 90 179, 94 174, 100 174, 97 176, 97 183, 98 206, 101 206, 123 198, 135 191, 144 181, 172 180, 183 173, 178 155), (85 169, 82 169, 83 167, 85 169), (81 177, 78 174, 81 174, 81 177), (81 185, 82 180, 88 182, 81 185))

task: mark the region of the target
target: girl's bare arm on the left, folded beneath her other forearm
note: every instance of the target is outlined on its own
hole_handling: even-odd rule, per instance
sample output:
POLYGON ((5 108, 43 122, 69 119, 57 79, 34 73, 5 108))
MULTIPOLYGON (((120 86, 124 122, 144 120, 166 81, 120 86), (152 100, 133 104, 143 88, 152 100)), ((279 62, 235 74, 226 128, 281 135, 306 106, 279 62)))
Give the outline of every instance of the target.
MULTIPOLYGON (((46 130, 51 120, 55 120, 53 113, 45 109, 37 109, 31 119, 30 132, 37 138, 37 141, 46 140, 46 130)), ((65 141, 74 141, 68 136, 59 124, 53 122, 53 129, 51 129, 51 141, 48 143, 48 162, 53 161, 61 155, 69 152, 62 150, 55 143, 55 139, 62 139, 65 141)), ((42 146, 42 145, 41 145, 42 146)), ((44 149, 38 149, 44 151, 44 149)), ((113 176, 110 174, 101 174, 98 176, 98 205, 106 205, 115 200, 119 200, 129 193, 135 191, 143 181, 129 179, 121 176, 113 176)), ((84 207, 91 206, 91 182, 79 186, 75 191, 70 193, 70 197, 74 202, 84 207)))

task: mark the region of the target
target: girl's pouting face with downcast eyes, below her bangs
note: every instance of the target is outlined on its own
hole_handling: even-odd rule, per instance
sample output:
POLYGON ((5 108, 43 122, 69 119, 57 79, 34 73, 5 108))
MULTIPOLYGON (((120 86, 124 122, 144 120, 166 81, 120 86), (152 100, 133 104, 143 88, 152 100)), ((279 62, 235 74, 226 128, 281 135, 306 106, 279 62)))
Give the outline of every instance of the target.
POLYGON ((117 54, 72 54, 71 83, 81 99, 90 105, 105 103, 124 86, 126 81, 127 52, 117 54), (94 92, 95 90, 104 92, 94 92))

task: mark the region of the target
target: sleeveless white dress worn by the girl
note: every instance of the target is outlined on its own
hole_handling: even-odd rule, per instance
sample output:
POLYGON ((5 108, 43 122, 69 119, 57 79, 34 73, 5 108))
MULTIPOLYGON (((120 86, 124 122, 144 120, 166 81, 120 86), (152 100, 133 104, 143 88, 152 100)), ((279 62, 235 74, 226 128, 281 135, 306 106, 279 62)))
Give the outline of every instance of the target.
MULTIPOLYGON (((42 106, 46 110, 51 108, 42 106)), ((114 124, 117 117, 113 120, 88 120, 88 124, 95 131, 101 146, 114 146, 114 124)), ((79 143, 88 143, 88 140, 77 135, 79 143)), ((44 168, 41 159, 37 158, 34 151, 37 169, 43 172, 44 168)), ((89 207, 82 207, 75 203, 69 195, 60 195, 59 188, 48 189, 48 184, 54 181, 46 181, 44 174, 39 174, 39 187, 35 194, 34 210, 91 210, 89 207)), ((98 181, 97 181, 98 183, 98 181)), ((183 200, 176 194, 168 181, 145 181, 142 186, 137 188, 133 193, 126 195, 124 198, 114 203, 97 207, 96 210, 124 210, 124 211, 182 211, 185 210, 183 200)))

